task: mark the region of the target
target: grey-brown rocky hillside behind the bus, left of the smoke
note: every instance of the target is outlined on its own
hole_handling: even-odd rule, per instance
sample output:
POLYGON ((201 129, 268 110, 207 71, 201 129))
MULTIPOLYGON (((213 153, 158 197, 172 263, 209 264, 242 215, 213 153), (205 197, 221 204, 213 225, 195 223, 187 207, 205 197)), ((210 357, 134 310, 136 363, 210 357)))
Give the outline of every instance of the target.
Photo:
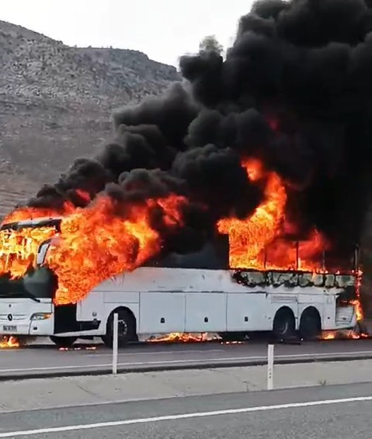
POLYGON ((180 78, 126 49, 69 47, 0 21, 0 216, 110 137, 110 114, 180 78))

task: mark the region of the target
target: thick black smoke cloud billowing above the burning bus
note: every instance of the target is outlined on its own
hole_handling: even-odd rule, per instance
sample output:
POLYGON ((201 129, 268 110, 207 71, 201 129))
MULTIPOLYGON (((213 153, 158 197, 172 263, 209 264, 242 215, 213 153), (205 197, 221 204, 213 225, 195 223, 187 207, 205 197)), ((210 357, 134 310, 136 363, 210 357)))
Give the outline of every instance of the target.
POLYGON ((288 184, 298 238, 315 227, 346 252, 371 199, 371 31, 370 0, 257 1, 226 57, 213 44, 181 57, 182 84, 115 112, 112 142, 30 205, 83 206, 76 189, 122 203, 184 194, 185 228, 170 241, 187 251, 262 201, 240 166, 254 156, 288 184))

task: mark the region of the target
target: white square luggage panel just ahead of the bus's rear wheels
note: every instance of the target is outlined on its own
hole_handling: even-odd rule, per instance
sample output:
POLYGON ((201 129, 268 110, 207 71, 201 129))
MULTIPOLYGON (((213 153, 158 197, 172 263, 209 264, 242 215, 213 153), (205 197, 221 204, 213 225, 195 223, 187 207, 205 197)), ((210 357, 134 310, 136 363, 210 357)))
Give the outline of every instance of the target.
POLYGON ((272 320, 265 293, 230 293, 227 298, 227 331, 270 331, 272 320))

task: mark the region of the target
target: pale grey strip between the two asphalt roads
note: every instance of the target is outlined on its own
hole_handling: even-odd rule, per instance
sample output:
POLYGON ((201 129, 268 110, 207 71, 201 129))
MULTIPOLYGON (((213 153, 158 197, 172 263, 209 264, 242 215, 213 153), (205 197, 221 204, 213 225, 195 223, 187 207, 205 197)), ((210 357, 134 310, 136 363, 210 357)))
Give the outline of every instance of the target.
MULTIPOLYGON (((372 360, 275 365, 274 387, 372 381, 372 360)), ((127 373, 0 382, 0 413, 265 390, 267 368, 127 373), (25 395, 28 395, 25 398, 25 395)))

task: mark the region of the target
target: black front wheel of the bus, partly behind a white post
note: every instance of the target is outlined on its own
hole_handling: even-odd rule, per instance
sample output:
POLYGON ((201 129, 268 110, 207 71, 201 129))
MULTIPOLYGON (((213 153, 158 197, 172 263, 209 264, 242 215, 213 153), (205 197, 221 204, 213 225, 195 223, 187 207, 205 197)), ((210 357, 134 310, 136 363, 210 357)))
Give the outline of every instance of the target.
POLYGON ((129 341, 136 341, 136 319, 131 311, 127 308, 119 308, 111 312, 107 319, 106 334, 102 336, 102 341, 107 348, 112 349, 114 339, 114 314, 118 313, 119 333, 117 345, 122 348, 129 341))

